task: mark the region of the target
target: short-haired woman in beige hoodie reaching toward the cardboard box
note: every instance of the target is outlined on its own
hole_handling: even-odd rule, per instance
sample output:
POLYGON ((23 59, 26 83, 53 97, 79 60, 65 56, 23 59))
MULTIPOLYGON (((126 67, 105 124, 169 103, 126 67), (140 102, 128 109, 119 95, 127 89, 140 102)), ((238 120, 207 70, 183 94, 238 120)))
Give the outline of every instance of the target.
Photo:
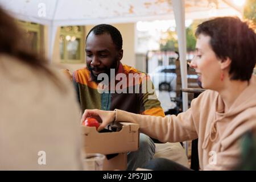
MULTIPOLYGON (((251 76, 256 63, 256 35, 240 19, 224 17, 201 23, 196 37, 191 67, 208 90, 192 101, 190 109, 165 118, 122 110, 85 110, 82 120, 100 116, 99 130, 113 121, 138 123, 142 133, 161 142, 198 138, 200 169, 236 167, 241 155, 240 138, 256 127, 256 78, 251 76)), ((153 169, 168 168, 166 160, 158 160, 152 162, 157 164, 153 169)))

